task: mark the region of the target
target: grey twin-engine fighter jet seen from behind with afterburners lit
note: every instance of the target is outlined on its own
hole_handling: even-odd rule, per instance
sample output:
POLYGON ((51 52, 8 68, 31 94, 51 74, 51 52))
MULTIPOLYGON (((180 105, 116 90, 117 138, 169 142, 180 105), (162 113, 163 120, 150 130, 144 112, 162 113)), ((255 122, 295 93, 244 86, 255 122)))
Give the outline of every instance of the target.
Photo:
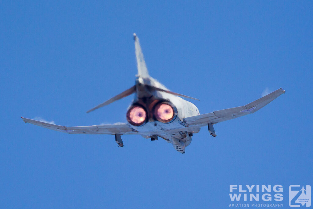
POLYGON ((89 113, 135 93, 135 98, 126 112, 128 123, 68 127, 22 117, 23 121, 68 134, 115 135, 115 141, 121 147, 124 146, 121 135, 137 134, 151 140, 161 137, 168 143, 172 143, 175 150, 185 153, 192 135, 198 133, 202 126, 208 126, 210 135, 216 137, 214 124, 254 113, 285 93, 280 88, 247 105, 200 115, 196 105, 181 97, 195 98, 174 93, 149 76, 139 38, 135 33, 134 40, 138 69, 135 85, 87 111, 89 113))

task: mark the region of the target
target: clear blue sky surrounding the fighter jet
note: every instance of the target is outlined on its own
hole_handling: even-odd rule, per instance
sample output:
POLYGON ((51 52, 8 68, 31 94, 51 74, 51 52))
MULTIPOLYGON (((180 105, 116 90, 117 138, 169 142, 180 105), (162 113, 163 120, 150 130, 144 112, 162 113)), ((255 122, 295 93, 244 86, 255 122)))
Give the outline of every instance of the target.
POLYGON ((311 1, 0 3, 1 208, 226 208, 230 184, 313 186, 311 1), (286 90, 206 127, 182 155, 164 140, 35 125, 126 122, 137 33, 149 73, 200 113, 286 90))

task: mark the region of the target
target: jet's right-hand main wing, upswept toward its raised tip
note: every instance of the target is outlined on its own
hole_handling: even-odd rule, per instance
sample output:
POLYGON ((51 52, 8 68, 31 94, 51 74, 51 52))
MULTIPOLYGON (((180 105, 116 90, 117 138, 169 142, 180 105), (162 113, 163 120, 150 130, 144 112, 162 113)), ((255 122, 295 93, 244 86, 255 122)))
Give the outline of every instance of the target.
POLYGON ((233 107, 225 110, 213 111, 212 113, 196 115, 188 118, 184 118, 183 122, 189 126, 205 126, 210 124, 220 123, 226 120, 231 120, 238 118, 250 113, 254 113, 269 104, 271 101, 276 99, 281 94, 285 93, 285 90, 282 88, 273 91, 270 94, 265 95, 264 97, 257 99, 248 105, 233 107))

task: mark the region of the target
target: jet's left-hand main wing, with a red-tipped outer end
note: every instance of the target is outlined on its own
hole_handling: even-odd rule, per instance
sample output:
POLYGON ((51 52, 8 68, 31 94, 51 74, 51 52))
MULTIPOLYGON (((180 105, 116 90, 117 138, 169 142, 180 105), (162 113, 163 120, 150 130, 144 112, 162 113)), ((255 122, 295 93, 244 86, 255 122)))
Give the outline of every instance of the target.
POLYGON ((90 126, 62 126, 45 123, 38 120, 23 118, 25 123, 31 123, 47 129, 68 134, 136 134, 126 123, 90 125, 90 126))

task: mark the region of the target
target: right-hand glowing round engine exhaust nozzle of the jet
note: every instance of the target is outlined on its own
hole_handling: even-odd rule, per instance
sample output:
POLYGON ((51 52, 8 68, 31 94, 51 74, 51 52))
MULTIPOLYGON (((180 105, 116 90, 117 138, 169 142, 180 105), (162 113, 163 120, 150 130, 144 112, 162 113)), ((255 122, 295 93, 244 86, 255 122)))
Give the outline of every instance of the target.
POLYGON ((162 123, 171 123, 177 117, 177 109, 167 102, 161 102, 154 108, 154 117, 162 123))

